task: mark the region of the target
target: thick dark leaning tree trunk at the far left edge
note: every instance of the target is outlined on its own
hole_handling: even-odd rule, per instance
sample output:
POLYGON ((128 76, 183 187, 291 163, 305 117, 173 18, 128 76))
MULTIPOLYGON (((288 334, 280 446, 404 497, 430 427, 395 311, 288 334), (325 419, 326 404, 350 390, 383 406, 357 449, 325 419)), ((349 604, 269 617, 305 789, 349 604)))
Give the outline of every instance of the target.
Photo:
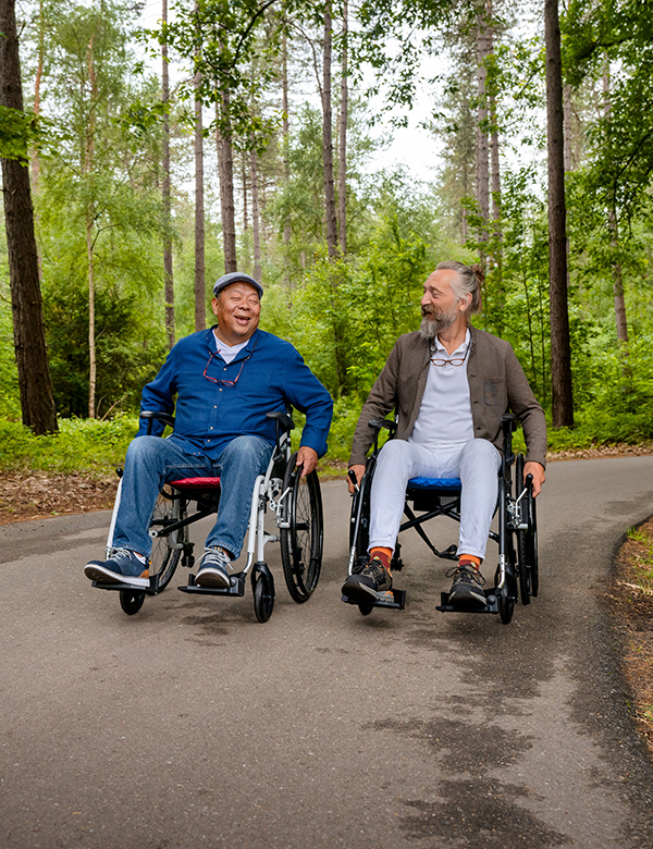
MULTIPOLYGON (((0 2, 0 106, 23 110, 14 0, 0 2)), ((57 410, 46 350, 34 210, 26 162, 2 160, 4 227, 14 348, 23 424, 36 434, 57 431, 57 410)))

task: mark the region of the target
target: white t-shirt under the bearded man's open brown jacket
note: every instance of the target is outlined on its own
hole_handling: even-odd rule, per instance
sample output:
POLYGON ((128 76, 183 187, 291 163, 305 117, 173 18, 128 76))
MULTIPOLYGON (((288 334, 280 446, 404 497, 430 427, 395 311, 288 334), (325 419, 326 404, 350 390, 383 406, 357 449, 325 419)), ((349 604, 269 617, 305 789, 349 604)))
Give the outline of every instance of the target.
POLYGON ((471 345, 469 328, 465 342, 449 356, 435 337, 431 350, 427 387, 408 442, 429 448, 454 448, 473 439, 471 402, 467 381, 467 355, 471 345), (460 366, 433 365, 433 359, 465 359, 460 366))

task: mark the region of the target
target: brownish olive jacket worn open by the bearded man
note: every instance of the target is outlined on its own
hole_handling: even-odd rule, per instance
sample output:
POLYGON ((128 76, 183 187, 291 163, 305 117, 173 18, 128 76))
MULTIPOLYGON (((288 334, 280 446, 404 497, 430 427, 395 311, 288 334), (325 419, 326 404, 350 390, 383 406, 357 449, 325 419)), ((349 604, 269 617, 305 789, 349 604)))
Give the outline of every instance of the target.
MULTIPOLYGON (((471 347, 467 379, 475 439, 489 440, 503 450, 501 417, 512 411, 520 420, 526 438, 526 462, 546 465, 546 420, 529 386, 523 369, 509 343, 469 328, 471 347)), ((399 336, 366 401, 352 444, 349 466, 365 465, 373 442, 371 419, 396 411, 395 439, 407 440, 421 406, 429 374, 430 344, 419 331, 399 336)))

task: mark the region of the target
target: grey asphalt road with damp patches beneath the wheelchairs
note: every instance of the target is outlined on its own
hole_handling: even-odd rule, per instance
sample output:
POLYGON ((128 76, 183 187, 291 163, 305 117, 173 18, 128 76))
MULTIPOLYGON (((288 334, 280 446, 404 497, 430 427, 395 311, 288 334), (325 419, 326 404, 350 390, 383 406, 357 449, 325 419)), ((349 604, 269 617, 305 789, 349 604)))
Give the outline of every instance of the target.
MULTIPOLYGON (((541 594, 441 614, 447 563, 405 534, 404 612, 340 602, 349 500, 269 623, 170 589, 125 616, 83 576, 108 513, 0 528, 2 849, 653 847, 653 771, 601 596, 653 457, 551 464, 541 594)), ((439 519, 436 544, 455 541, 439 519)), ((495 546, 490 557, 494 557, 495 546)))

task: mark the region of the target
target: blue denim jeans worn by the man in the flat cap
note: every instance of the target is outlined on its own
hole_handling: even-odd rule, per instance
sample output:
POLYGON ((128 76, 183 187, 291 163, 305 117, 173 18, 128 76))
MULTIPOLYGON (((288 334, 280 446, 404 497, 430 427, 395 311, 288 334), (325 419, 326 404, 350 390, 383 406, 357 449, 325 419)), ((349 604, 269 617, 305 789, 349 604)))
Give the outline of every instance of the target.
POLYGON ((137 436, 125 459, 113 546, 149 557, 148 528, 163 484, 182 478, 220 477, 220 508, 207 545, 221 545, 237 558, 247 532, 254 483, 266 472, 271 455, 272 445, 261 436, 236 436, 214 460, 185 454, 170 439, 137 436))

